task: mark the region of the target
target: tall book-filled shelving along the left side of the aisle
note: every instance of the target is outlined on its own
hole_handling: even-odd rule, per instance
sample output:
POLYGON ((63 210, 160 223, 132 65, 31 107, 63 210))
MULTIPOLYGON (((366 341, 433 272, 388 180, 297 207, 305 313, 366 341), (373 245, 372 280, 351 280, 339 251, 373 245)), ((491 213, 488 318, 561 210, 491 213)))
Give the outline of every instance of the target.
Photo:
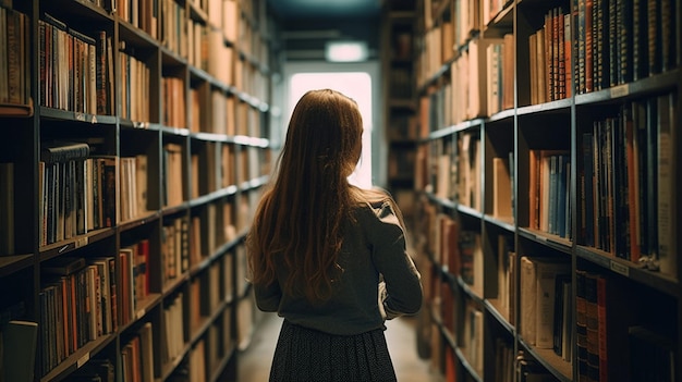
POLYGON ((272 27, 265 0, 0 1, 0 332, 38 323, 36 381, 234 378, 272 27))

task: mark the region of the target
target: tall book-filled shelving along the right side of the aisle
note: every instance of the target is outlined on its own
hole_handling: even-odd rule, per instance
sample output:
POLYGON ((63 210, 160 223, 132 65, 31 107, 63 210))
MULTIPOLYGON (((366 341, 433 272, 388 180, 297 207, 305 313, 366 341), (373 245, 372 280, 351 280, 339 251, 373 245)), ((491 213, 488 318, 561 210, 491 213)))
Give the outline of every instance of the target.
POLYGON ((417 2, 418 342, 446 380, 682 381, 680 9, 417 2))

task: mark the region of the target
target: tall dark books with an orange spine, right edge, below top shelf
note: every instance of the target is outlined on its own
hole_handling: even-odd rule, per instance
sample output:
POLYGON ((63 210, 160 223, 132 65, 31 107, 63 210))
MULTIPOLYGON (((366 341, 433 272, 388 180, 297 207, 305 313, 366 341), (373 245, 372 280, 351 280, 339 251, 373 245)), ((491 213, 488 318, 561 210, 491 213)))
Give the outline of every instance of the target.
POLYGON ((650 257, 668 274, 677 272, 670 221, 673 104, 670 94, 628 102, 583 130, 580 173, 583 243, 633 262, 650 257))

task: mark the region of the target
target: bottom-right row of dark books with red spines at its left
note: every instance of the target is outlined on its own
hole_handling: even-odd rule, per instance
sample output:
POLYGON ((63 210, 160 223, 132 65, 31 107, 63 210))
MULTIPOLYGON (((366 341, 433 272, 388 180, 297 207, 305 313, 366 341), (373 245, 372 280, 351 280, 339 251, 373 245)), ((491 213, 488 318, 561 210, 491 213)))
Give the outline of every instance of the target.
POLYGON ((612 275, 575 274, 577 378, 589 381, 675 381, 674 341, 642 322, 636 292, 612 275), (622 296, 626 293, 626 296, 622 296), (628 365, 628 367, 623 367, 628 365))

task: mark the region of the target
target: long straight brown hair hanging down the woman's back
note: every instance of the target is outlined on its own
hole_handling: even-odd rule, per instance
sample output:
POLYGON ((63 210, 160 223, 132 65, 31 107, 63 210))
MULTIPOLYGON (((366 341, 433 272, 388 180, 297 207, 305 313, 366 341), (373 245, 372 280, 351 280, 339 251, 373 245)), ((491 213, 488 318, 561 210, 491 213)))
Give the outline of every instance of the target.
POLYGON ((285 293, 310 301, 331 296, 342 272, 343 222, 357 200, 348 176, 360 159, 362 133, 356 102, 341 93, 310 90, 299 100, 246 241, 254 284, 276 282, 276 257, 282 256, 285 293))

